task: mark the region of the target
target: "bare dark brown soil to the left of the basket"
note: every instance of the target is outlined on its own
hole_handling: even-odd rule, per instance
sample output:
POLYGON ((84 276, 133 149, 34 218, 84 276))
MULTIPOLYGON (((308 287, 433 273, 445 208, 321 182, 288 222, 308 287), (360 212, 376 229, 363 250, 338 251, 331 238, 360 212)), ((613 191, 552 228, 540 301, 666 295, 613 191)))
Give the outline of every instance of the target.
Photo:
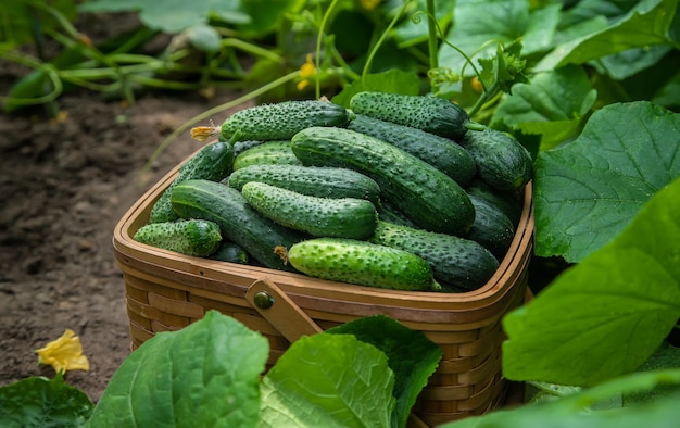
MULTIPOLYGON (((18 77, 8 68, 0 64, 0 93, 18 77)), ((0 116, 0 386, 52 378, 52 367, 38 365, 34 351, 70 328, 80 337, 90 370, 67 372, 65 381, 99 400, 130 352, 113 228, 146 190, 202 146, 185 133, 140 182, 159 143, 232 98, 153 93, 126 106, 83 91, 59 99, 58 119, 40 111, 0 116)))

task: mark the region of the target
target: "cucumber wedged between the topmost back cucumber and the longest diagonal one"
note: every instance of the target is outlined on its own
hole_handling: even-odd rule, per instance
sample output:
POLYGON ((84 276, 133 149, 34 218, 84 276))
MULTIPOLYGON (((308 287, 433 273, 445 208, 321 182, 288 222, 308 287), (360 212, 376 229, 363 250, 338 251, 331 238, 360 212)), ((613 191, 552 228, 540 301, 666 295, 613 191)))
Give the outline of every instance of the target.
POLYGON ((467 186, 475 176, 473 156, 449 138, 365 114, 357 114, 348 129, 390 142, 435 166, 461 186, 467 186))

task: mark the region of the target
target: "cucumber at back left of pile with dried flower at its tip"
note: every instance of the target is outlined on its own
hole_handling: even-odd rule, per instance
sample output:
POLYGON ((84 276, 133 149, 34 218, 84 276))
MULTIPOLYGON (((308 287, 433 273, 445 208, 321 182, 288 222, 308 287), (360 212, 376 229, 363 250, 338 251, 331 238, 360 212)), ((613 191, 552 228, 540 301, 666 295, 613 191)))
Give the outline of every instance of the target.
POLYGON ((293 100, 238 111, 222 124, 221 138, 230 141, 289 140, 311 126, 347 126, 351 112, 329 101, 293 100))

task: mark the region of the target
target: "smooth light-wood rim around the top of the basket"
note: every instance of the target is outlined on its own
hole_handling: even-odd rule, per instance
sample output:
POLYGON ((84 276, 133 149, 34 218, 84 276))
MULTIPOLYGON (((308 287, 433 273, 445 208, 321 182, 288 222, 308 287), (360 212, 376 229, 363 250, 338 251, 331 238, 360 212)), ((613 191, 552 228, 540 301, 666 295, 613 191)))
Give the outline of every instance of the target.
MULTIPOLYGON (((200 150, 200 149, 199 149, 200 150)), ((198 152, 198 150, 197 150, 198 152)), ((387 290, 312 278, 303 274, 276 270, 260 266, 240 265, 204 257, 196 257, 142 244, 133 239, 135 231, 146 224, 152 203, 175 179, 181 165, 192 155, 172 168, 151 186, 121 217, 113 230, 113 247, 118 263, 129 261, 158 267, 158 272, 194 275, 201 279, 242 276, 243 290, 254 280, 269 278, 291 295, 307 295, 314 299, 348 302, 379 302, 381 305, 417 307, 427 310, 469 311, 494 306, 503 300, 508 289, 516 282, 513 276, 524 270, 532 250, 533 203, 532 182, 524 189, 524 207, 517 224, 509 250, 499 264, 493 276, 480 288, 461 293, 438 293, 431 291, 387 290), (248 278, 252 279, 248 281, 248 278)), ((173 275, 168 275, 171 279, 173 275)), ((198 285, 201 287, 200 285, 198 285)))

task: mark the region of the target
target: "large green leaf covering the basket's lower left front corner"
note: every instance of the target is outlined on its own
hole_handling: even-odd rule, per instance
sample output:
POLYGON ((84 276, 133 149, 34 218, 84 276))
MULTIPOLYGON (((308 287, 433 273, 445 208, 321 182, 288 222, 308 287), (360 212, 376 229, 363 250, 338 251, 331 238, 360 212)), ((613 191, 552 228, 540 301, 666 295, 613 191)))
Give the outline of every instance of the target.
POLYGON ((121 365, 91 427, 254 427, 267 340, 210 311, 179 331, 160 332, 121 365))

